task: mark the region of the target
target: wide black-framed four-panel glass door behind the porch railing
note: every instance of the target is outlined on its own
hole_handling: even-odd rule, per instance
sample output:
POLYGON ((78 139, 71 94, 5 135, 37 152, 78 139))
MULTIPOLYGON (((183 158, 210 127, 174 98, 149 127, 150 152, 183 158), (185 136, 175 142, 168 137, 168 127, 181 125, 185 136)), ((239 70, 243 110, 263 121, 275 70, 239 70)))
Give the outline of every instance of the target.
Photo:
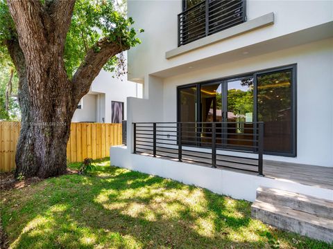
POLYGON ((216 139, 230 149, 251 145, 244 138, 256 120, 264 122, 266 154, 296 156, 296 65, 178 87, 178 121, 224 125, 226 137, 216 139))

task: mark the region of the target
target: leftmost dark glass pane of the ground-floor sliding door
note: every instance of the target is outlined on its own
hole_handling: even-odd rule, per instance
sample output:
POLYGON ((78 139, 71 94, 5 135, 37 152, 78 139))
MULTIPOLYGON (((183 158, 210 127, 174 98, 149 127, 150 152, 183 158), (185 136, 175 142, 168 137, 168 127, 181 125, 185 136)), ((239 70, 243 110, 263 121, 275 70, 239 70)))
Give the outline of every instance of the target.
MULTIPOLYGON (((180 89, 180 122, 196 122, 196 106, 197 106, 197 90, 196 86, 187 89, 180 89)), ((182 124, 182 143, 185 145, 196 145, 196 125, 194 123, 182 124)))

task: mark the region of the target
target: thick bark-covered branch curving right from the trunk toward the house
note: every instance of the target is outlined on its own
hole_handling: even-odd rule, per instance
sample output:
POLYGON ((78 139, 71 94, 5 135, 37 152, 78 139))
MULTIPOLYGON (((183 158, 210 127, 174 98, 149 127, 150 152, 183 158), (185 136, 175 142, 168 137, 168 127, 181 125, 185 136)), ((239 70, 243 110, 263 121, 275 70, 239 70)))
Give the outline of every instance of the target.
POLYGON ((106 62, 125 50, 128 50, 128 47, 121 46, 116 42, 109 42, 107 38, 101 39, 92 46, 73 76, 73 100, 78 102, 83 95, 87 94, 92 81, 99 75, 106 62))

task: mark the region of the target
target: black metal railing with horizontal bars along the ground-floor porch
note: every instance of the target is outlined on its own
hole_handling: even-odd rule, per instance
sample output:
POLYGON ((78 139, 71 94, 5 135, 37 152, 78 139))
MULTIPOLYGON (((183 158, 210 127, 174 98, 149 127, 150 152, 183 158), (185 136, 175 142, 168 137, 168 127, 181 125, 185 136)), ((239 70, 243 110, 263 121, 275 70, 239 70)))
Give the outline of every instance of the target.
POLYGON ((263 176, 263 122, 136 122, 133 127, 134 153, 263 176), (239 127, 244 132, 237 133, 239 127))

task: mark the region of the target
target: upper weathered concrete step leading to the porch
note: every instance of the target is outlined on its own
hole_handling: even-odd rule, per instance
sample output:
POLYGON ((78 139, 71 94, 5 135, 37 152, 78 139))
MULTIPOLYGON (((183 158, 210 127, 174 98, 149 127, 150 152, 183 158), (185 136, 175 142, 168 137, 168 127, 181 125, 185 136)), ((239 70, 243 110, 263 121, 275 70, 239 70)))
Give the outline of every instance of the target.
POLYGON ((257 201, 280 205, 327 219, 333 219, 333 201, 269 187, 257 188, 257 201))

